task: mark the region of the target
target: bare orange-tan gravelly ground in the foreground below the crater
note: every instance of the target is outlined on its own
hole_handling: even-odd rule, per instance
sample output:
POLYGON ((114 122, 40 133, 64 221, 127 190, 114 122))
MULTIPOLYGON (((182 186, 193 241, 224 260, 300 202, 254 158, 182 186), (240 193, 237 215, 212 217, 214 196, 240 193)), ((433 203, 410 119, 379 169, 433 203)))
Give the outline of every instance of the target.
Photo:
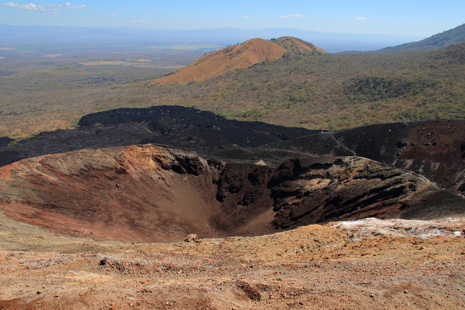
POLYGON ((133 244, 0 215, 0 309, 464 309, 465 218, 133 244))

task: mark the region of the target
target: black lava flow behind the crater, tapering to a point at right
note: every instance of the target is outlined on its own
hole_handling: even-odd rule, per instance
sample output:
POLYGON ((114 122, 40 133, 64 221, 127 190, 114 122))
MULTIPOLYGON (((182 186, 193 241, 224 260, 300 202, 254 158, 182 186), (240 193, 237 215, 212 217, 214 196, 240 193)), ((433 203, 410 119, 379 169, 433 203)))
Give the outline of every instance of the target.
POLYGON ((147 143, 186 148, 205 156, 234 145, 256 147, 319 132, 229 120, 212 112, 184 106, 97 112, 83 116, 78 125, 80 127, 75 129, 40 132, 18 144, 0 146, 0 166, 46 154, 147 143))

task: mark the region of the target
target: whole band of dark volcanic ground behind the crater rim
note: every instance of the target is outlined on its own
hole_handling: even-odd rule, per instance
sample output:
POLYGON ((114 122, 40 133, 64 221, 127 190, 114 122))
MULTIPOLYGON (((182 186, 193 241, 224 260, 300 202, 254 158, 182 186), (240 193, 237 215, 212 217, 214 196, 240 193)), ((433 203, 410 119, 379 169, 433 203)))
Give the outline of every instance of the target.
POLYGON ((228 120, 183 106, 121 108, 88 114, 73 130, 41 132, 0 146, 0 165, 86 148, 161 144, 204 158, 278 167, 287 158, 359 156, 419 173, 441 188, 463 190, 465 120, 430 119, 337 132, 228 120))

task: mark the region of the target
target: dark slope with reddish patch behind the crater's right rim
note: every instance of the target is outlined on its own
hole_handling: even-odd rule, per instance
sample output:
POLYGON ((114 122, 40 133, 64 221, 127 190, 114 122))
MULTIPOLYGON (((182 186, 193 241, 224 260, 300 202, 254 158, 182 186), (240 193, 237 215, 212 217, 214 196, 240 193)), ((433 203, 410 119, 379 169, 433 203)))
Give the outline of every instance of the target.
POLYGON ((464 119, 428 119, 324 132, 262 145, 259 149, 314 156, 356 155, 417 172, 439 187, 458 191, 459 184, 465 181, 464 140, 464 119))

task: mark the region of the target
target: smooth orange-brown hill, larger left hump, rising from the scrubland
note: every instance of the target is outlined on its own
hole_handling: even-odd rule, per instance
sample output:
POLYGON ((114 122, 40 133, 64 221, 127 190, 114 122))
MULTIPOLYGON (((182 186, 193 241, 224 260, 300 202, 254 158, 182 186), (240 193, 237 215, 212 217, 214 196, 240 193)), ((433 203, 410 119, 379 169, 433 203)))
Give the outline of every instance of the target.
POLYGON ((286 49, 269 40, 255 38, 240 45, 228 46, 200 57, 181 70, 150 81, 153 84, 186 84, 201 82, 237 68, 283 57, 286 49))

